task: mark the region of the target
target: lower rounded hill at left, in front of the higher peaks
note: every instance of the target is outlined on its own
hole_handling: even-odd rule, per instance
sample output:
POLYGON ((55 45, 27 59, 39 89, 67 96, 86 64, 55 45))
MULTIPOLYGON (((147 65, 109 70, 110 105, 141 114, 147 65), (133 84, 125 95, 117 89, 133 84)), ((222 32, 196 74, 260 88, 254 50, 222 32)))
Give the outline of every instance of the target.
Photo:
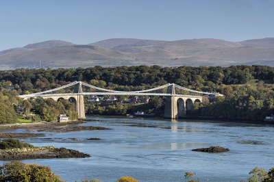
POLYGON ((0 55, 0 66, 12 68, 38 68, 41 62, 45 68, 59 67, 87 67, 87 66, 113 66, 134 65, 134 60, 128 53, 94 47, 90 45, 72 45, 53 47, 48 49, 35 49, 20 53, 6 53, 0 55))

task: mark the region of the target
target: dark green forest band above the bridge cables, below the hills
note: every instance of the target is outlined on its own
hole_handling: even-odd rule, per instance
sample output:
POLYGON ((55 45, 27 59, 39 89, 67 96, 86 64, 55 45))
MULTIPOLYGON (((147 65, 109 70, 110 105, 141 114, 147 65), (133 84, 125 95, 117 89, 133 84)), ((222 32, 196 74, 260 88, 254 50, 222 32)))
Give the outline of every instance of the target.
POLYGON ((177 68, 160 66, 117 66, 104 68, 58 68, 58 69, 16 69, 0 71, 0 89, 11 84, 19 92, 40 92, 73 81, 85 81, 101 88, 116 90, 142 90, 166 83, 217 92, 222 84, 242 84, 251 79, 273 81, 274 68, 270 66, 180 66, 177 68))

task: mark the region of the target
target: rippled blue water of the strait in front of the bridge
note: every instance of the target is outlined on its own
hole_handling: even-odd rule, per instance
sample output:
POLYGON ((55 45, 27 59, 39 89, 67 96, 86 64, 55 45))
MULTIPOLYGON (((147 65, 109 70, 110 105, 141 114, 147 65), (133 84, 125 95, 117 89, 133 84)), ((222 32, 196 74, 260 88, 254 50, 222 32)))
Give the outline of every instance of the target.
POLYGON ((25 139, 25 142, 73 148, 92 157, 24 161, 50 166, 67 181, 81 181, 85 177, 116 181, 125 175, 139 181, 186 181, 186 171, 196 172, 202 181, 240 181, 246 180, 256 166, 274 167, 274 127, 271 126, 201 120, 88 118, 100 121, 81 125, 110 130, 47 133, 44 138, 25 139), (230 151, 191 151, 216 145, 230 151))

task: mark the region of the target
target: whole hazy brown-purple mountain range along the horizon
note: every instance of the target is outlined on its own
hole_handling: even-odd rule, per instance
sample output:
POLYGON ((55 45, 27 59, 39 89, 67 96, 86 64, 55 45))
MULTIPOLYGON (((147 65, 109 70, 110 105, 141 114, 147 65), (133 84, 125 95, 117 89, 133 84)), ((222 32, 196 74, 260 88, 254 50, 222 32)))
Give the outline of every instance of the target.
POLYGON ((0 69, 88 66, 274 66, 274 38, 229 42, 213 38, 141 40, 112 38, 90 44, 49 40, 0 51, 0 69))

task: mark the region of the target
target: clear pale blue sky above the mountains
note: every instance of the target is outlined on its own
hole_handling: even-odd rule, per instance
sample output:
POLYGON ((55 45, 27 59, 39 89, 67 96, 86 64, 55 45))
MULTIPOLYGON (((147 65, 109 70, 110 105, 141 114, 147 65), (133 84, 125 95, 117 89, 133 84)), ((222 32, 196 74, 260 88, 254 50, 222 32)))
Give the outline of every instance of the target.
POLYGON ((273 0, 1 0, 0 50, 46 40, 274 37, 273 0))

